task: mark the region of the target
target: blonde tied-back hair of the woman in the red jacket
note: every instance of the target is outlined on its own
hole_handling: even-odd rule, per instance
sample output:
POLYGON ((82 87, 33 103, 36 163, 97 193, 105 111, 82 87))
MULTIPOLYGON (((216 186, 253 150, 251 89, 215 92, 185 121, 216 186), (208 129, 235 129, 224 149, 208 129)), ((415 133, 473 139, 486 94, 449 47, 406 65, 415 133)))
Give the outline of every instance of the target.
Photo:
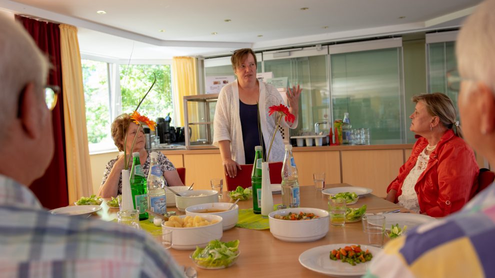
POLYGON ((455 119, 455 107, 452 100, 441 92, 423 93, 414 95, 411 99, 414 103, 422 102, 426 105, 426 111, 431 116, 437 116, 440 123, 447 129, 452 129, 455 126, 454 133, 462 137, 462 132, 458 126, 458 121, 455 119))

